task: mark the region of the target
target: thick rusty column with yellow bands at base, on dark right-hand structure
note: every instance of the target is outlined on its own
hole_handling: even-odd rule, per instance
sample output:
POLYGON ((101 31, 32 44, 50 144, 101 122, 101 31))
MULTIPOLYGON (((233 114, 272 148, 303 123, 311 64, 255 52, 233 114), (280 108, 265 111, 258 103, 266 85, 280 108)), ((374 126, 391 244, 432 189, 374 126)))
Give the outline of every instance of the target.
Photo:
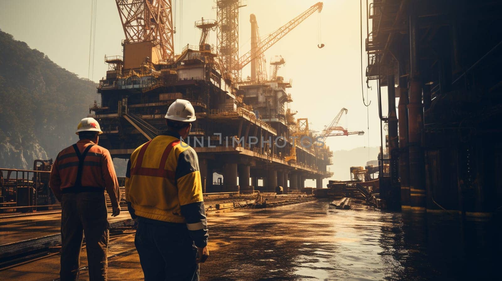
POLYGON ((422 107, 422 81, 419 73, 417 16, 412 8, 410 16, 410 104, 408 129, 410 147, 410 201, 414 209, 425 210, 425 163, 421 146, 424 111, 422 107))

